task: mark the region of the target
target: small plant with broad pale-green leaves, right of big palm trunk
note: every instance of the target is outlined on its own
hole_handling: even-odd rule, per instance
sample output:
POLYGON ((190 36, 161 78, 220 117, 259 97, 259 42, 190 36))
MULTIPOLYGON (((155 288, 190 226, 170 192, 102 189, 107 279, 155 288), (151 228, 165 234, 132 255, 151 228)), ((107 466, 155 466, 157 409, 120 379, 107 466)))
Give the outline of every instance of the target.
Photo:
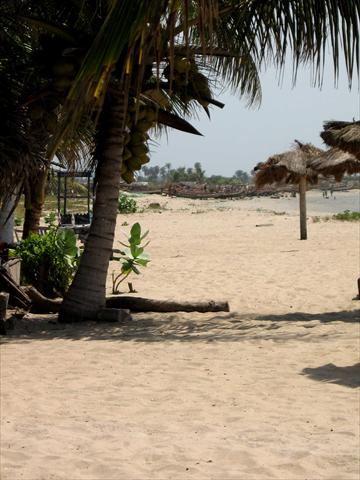
POLYGON ((146 267, 150 262, 149 256, 144 252, 144 249, 149 245, 147 242, 142 245, 142 241, 148 235, 147 230, 144 234, 141 232, 141 226, 139 223, 134 223, 130 230, 130 237, 128 243, 121 243, 125 247, 124 250, 118 251, 118 257, 114 258, 121 263, 121 272, 119 274, 112 274, 112 293, 119 293, 120 284, 131 274, 140 274, 140 268, 146 267))

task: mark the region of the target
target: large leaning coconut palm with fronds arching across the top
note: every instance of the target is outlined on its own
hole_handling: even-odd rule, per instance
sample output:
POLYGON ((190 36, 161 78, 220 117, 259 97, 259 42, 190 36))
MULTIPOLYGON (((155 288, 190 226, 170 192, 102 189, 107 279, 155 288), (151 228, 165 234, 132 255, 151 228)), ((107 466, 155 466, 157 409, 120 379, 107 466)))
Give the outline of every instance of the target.
MULTIPOLYGON (((97 149, 98 185, 94 220, 78 274, 63 303, 60 318, 94 318, 104 306, 105 282, 116 221, 127 99, 131 87, 140 95, 145 72, 155 65, 155 81, 167 59, 167 91, 171 95, 176 54, 202 55, 204 66, 234 88, 259 95, 257 68, 266 61, 282 67, 290 46, 296 72, 300 62, 315 65, 318 80, 328 37, 335 71, 342 42, 349 80, 359 57, 357 2, 331 0, 268 2, 165 0, 111 2, 94 43, 70 93, 67 125, 79 112, 104 101, 97 149), (339 21, 339 18, 341 21, 339 21), (245 73, 244 73, 245 72, 245 73)), ((154 73, 154 70, 152 70, 154 73)), ((165 89, 164 89, 165 90, 165 89)), ((194 96, 198 92, 191 92, 194 96)), ((179 96, 191 104, 186 91, 179 96)), ((200 98, 199 98, 200 97, 200 98)), ((207 98, 198 100, 207 108, 207 98)))

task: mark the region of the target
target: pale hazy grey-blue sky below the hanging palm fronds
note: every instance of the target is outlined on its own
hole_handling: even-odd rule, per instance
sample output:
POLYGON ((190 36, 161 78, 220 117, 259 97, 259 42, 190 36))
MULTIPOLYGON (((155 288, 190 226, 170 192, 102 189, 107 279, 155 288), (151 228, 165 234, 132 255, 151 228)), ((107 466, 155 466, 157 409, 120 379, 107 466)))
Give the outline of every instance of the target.
POLYGON ((224 109, 213 107, 211 120, 205 112, 199 120, 190 120, 204 136, 169 129, 168 137, 152 148, 151 165, 170 162, 173 167, 190 167, 200 162, 207 175, 231 176, 238 169, 250 171, 257 162, 289 149, 295 138, 324 146, 319 136, 324 120, 360 117, 358 79, 354 78, 349 91, 341 71, 335 88, 330 62, 321 89, 311 86, 309 69, 299 71, 294 88, 291 67, 286 68, 281 86, 273 69, 261 75, 261 82, 260 108, 248 109, 245 100, 220 94, 216 98, 226 104, 224 109))

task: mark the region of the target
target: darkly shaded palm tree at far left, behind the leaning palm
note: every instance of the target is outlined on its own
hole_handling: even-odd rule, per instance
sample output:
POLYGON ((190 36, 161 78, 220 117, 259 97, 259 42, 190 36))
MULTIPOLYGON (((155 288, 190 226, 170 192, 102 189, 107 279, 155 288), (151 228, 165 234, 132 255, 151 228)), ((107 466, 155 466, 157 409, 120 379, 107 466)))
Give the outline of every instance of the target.
MULTIPOLYGON (((71 0, 61 6, 51 0, 9 0, 0 4, 0 73, 4 97, 0 107, 4 122, 0 129, 3 151, 0 177, 4 186, 0 188, 0 203, 3 201, 6 207, 6 198, 12 191, 17 192, 16 201, 24 192, 24 237, 39 227, 51 161, 47 147, 57 127, 60 106, 66 99, 66 82, 75 73, 72 56, 63 57, 74 37, 54 24, 56 20, 67 25, 73 14, 71 0), (48 24, 53 22, 51 32, 36 19, 39 12, 48 24)), ((88 141, 88 126, 84 128, 82 124, 80 130, 77 128, 68 135, 66 145, 64 142, 59 145, 57 153, 66 158, 75 151, 83 153, 79 132, 80 140, 88 141)))

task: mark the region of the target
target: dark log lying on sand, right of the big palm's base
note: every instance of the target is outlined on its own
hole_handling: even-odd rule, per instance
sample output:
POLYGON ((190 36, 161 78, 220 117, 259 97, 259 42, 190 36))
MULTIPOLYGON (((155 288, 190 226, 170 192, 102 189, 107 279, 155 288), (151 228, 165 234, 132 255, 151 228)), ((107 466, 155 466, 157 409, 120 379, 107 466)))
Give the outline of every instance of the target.
POLYGON ((109 308, 125 308, 131 312, 229 312, 228 302, 173 302, 142 297, 117 295, 106 299, 109 308))

